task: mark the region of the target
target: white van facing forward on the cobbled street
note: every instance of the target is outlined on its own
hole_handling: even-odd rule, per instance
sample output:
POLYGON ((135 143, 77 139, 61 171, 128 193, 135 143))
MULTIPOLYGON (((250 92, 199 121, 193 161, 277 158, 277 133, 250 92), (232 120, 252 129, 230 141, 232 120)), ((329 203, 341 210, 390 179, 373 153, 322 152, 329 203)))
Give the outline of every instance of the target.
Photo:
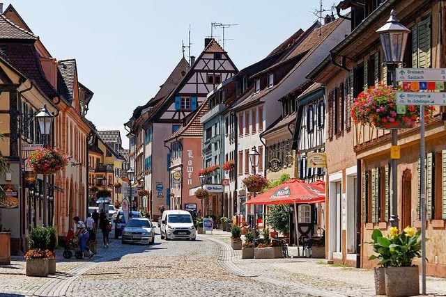
POLYGON ((160 226, 161 239, 197 239, 194 220, 189 211, 165 210, 160 226))

